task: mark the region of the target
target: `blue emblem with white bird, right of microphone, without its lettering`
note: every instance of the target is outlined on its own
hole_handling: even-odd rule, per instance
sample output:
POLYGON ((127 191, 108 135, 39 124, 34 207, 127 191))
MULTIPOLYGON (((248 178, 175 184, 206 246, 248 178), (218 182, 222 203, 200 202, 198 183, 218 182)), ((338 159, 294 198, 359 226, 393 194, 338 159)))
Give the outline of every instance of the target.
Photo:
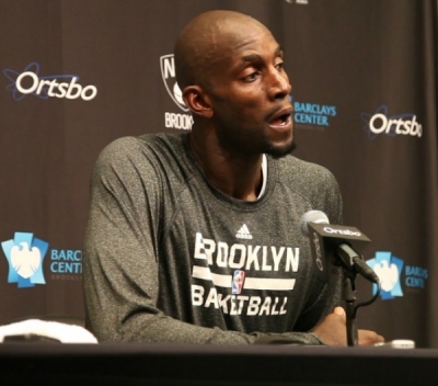
MULTIPOLYGON (((382 300, 393 299, 395 296, 403 296, 400 276, 403 270, 403 260, 392 256, 391 252, 376 252, 374 259, 367 260, 379 276, 382 291, 382 300)), ((377 285, 373 284, 372 293, 377 293, 377 285)))

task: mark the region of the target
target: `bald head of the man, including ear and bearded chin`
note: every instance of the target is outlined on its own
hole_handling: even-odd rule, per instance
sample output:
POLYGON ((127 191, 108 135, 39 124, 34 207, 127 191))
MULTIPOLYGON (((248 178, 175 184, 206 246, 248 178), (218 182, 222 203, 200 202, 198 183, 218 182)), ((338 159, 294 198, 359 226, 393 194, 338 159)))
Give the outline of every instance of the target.
POLYGON ((182 31, 175 66, 194 129, 212 133, 230 152, 291 151, 291 88, 283 50, 262 23, 232 11, 203 13, 182 31))

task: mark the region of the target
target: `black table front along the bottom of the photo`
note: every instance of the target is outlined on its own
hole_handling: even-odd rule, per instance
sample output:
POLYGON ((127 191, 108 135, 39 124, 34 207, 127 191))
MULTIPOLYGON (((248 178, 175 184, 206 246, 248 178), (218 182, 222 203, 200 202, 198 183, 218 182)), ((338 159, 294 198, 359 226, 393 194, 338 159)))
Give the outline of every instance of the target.
POLYGON ((0 385, 434 385, 438 350, 0 344, 0 385))

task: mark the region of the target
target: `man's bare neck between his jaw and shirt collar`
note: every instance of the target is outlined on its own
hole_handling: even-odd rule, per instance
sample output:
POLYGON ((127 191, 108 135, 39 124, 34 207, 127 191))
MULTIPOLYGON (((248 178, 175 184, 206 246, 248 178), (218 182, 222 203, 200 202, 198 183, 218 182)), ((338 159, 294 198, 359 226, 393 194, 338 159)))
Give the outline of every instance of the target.
POLYGON ((255 201, 262 188, 262 155, 242 156, 223 151, 189 135, 192 154, 208 181, 221 192, 242 201, 255 201))

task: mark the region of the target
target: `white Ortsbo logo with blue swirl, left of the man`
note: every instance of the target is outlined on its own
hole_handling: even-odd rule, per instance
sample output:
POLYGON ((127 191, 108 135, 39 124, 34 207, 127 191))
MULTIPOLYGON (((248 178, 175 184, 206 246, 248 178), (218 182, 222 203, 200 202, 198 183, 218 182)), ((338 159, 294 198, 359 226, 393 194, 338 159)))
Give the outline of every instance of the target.
POLYGON ((21 101, 27 95, 39 99, 61 98, 91 101, 97 94, 95 86, 80 84, 78 75, 39 75, 39 65, 35 61, 28 64, 22 71, 3 69, 3 75, 10 81, 7 90, 12 93, 15 101, 21 101))

